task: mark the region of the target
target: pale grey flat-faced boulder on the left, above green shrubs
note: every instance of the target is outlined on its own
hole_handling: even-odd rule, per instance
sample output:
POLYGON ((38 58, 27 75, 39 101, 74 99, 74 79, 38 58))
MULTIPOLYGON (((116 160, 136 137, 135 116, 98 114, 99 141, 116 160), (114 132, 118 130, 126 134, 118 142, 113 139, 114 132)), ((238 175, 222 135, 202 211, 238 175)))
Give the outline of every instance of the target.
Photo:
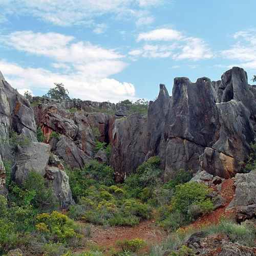
POLYGON ((15 182, 22 184, 30 172, 45 176, 49 156, 50 146, 45 143, 31 142, 30 145, 20 148, 12 168, 15 182))

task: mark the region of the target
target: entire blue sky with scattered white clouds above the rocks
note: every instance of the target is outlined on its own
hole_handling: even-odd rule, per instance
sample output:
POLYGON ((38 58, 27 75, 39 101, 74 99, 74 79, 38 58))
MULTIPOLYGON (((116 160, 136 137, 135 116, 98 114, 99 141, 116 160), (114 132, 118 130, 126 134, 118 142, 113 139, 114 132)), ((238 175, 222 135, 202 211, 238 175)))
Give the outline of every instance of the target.
POLYGON ((20 93, 154 100, 175 77, 256 74, 255 0, 0 0, 0 71, 20 93))

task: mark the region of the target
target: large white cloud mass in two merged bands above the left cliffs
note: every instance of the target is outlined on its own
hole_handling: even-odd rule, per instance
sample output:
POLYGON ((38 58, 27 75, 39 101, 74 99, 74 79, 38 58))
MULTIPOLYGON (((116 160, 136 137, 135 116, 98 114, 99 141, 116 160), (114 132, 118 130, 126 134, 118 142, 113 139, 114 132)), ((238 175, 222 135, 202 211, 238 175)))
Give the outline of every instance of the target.
POLYGON ((31 55, 48 57, 50 69, 21 67, 17 63, 0 61, 0 70, 12 86, 24 91, 48 91, 54 82, 62 82, 72 97, 117 102, 135 99, 135 87, 129 82, 111 79, 127 63, 123 55, 90 42, 76 41, 74 37, 57 33, 17 31, 2 36, 1 42, 9 48, 31 55))

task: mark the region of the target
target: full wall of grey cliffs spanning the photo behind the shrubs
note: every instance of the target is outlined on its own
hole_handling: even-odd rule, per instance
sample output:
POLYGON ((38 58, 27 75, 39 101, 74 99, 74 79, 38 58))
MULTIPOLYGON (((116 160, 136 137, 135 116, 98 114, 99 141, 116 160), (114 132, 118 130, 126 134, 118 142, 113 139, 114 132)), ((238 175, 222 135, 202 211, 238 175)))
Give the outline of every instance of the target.
MULTIPOLYGON (((1 159, 13 161, 13 179, 18 183, 31 169, 51 177, 65 206, 72 203, 68 178, 50 163, 51 155, 72 168, 82 168, 99 158, 94 152, 98 140, 112 146, 110 164, 118 181, 156 155, 161 158, 166 181, 181 168, 229 178, 239 172, 241 162, 248 157, 256 131, 256 89, 248 85, 247 74, 240 68, 225 72, 220 81, 175 78, 172 96, 160 84, 158 98, 150 102, 147 116, 126 116, 123 106, 109 102, 42 97, 28 102, 2 73, 0 78, 1 159), (47 144, 37 142, 37 127, 44 132, 47 144), (19 148, 14 158, 11 131, 31 141, 25 149, 19 148)), ((1 159, 0 187, 4 190, 1 159)), ((105 156, 102 159, 106 161, 105 156)))

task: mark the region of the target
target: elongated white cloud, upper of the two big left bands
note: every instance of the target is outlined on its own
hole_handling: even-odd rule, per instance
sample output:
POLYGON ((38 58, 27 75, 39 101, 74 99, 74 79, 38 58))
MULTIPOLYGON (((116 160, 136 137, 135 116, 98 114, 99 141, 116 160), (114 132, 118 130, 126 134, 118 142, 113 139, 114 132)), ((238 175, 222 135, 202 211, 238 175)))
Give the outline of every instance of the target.
POLYGON ((94 46, 90 42, 74 42, 73 36, 58 33, 17 31, 1 37, 3 44, 19 51, 43 55, 62 62, 87 62, 93 59, 117 59, 114 50, 94 46))

